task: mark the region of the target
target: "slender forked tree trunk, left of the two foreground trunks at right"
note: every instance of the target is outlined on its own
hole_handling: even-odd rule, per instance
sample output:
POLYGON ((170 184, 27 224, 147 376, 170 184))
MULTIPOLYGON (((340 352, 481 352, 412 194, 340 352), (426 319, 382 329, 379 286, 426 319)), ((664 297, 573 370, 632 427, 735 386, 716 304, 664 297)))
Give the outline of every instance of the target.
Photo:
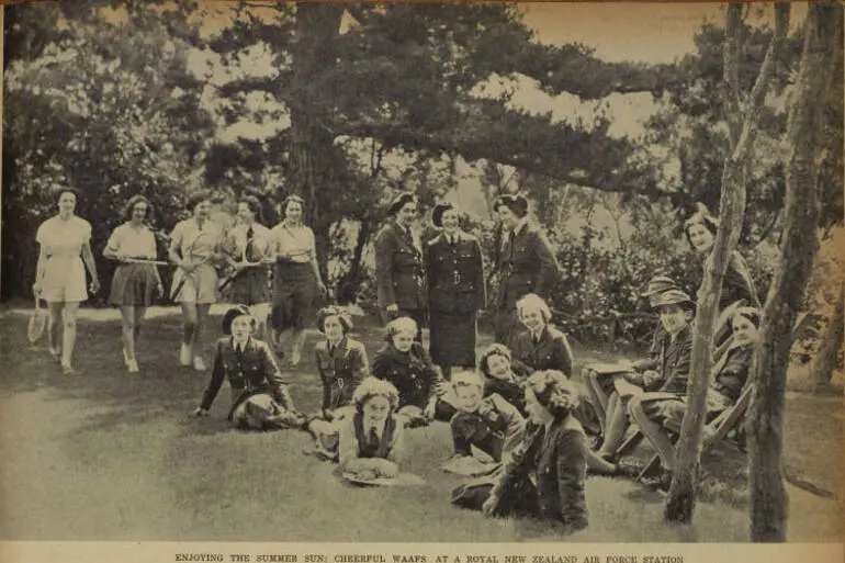
MULTIPOLYGON (((743 4, 732 3, 728 8, 726 30, 740 33, 742 29, 743 4)), ((789 27, 789 4, 776 7, 775 33, 771 37, 766 58, 748 98, 742 116, 731 116, 729 121, 739 121, 735 145, 725 161, 722 173, 722 193, 719 204, 720 227, 716 236, 712 254, 705 264, 705 275, 698 290, 698 311, 692 331, 692 357, 690 360, 689 387, 687 390, 687 412, 680 428, 680 439, 676 449, 676 471, 673 475, 669 495, 666 499, 664 518, 669 522, 689 523, 696 506, 696 486, 701 457, 701 433, 707 412, 707 390, 710 386, 710 369, 713 327, 719 313, 719 293, 728 262, 736 248, 745 216, 745 185, 747 183, 748 161, 756 137, 759 109, 768 90, 774 74, 775 57, 778 46, 789 27)), ((733 45, 735 37, 725 36, 731 45, 724 49, 724 77, 729 85, 725 93, 739 105, 735 88, 730 85, 739 76, 740 57, 733 45)), ((730 105, 730 104, 729 104, 730 105)))

